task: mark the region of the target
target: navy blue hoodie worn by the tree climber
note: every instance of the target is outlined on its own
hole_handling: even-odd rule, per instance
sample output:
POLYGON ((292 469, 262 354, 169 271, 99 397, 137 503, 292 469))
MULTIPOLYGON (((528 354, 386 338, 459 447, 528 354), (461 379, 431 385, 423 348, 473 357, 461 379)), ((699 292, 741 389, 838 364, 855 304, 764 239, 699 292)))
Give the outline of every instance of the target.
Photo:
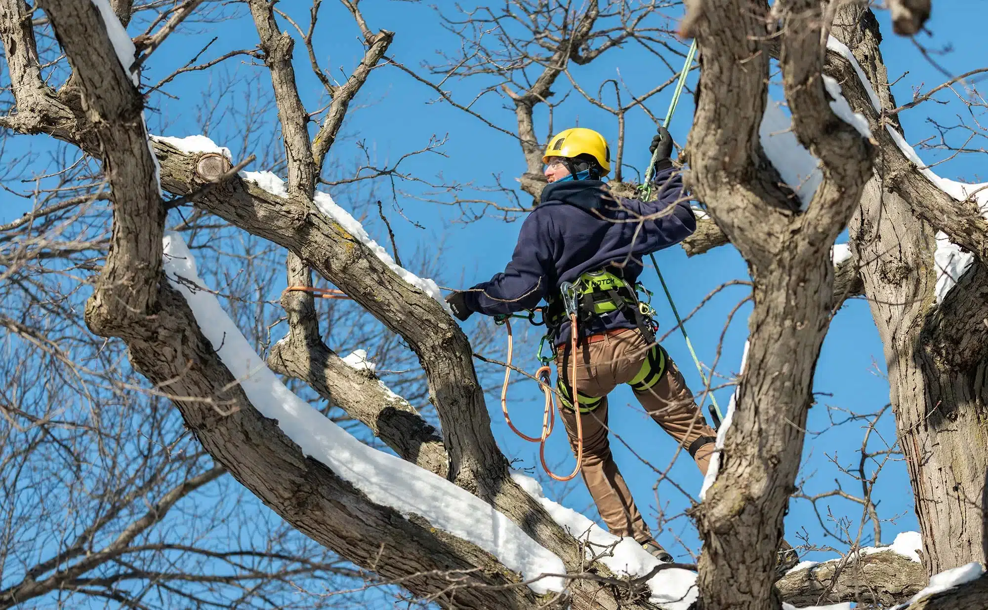
MULTIPOLYGON (((473 286, 466 293, 466 306, 489 316, 532 309, 546 294, 558 292, 562 282, 603 268, 622 271, 633 283, 641 274, 643 257, 678 244, 697 228, 678 170, 659 170, 653 189, 658 198, 646 203, 615 197, 599 180, 546 186, 541 203, 522 224, 511 263, 503 273, 473 286), (637 220, 663 210, 667 213, 637 220)), ((616 311, 582 325, 580 335, 622 328, 636 326, 616 311)), ((569 335, 569 325, 563 325, 555 344, 568 342, 569 335)))

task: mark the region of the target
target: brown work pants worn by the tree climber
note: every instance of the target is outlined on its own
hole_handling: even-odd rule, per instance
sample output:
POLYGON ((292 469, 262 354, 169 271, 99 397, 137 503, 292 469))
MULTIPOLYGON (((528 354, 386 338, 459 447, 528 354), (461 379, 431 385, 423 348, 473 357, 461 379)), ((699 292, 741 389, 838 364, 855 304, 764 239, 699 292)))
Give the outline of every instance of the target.
MULTIPOLYGON (((581 342, 576 354, 577 392, 581 396, 605 397, 596 409, 582 414, 583 460, 580 472, 611 533, 631 536, 638 542, 651 539, 651 533, 638 513, 611 455, 606 397, 617 385, 634 378, 650 348, 651 345, 638 331, 627 330, 606 335, 594 343, 581 342)), ((569 351, 568 347, 560 348, 556 356, 556 372, 567 385, 572 374, 569 351)), ((660 380, 643 392, 636 391, 634 395, 645 412, 693 455, 700 472, 705 474, 714 450, 716 431, 706 424, 693 393, 673 361, 666 358, 665 372, 660 380)), ((575 455, 576 414, 572 409, 564 408, 558 396, 556 408, 562 416, 575 455)))

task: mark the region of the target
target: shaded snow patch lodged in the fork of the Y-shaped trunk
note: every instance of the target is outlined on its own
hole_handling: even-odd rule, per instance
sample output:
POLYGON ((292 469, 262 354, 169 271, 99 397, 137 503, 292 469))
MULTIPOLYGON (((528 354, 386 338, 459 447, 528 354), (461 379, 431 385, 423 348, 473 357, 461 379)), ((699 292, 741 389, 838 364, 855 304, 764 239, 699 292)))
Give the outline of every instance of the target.
POLYGON ((823 182, 820 162, 799 143, 792 132, 792 119, 771 98, 762 115, 758 135, 765 154, 779 170, 782 181, 796 191, 802 209, 806 209, 813 193, 823 182))

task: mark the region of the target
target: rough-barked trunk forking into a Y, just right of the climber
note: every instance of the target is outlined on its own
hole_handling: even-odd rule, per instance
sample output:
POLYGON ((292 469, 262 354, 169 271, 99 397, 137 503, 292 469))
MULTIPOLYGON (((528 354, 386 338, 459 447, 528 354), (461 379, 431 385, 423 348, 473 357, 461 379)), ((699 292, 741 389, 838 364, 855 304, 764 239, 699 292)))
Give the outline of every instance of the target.
POLYGON ((689 182, 748 261, 755 302, 721 474, 696 511, 703 538, 700 607, 764 610, 779 606, 775 552, 831 317, 830 248, 861 196, 871 151, 827 104, 818 2, 785 3, 773 15, 755 0, 690 9, 702 59, 689 182), (782 30, 775 32, 780 17, 782 30), (802 213, 778 186, 758 135, 769 81, 765 40, 773 36, 782 38, 793 130, 822 163, 823 182, 802 213))

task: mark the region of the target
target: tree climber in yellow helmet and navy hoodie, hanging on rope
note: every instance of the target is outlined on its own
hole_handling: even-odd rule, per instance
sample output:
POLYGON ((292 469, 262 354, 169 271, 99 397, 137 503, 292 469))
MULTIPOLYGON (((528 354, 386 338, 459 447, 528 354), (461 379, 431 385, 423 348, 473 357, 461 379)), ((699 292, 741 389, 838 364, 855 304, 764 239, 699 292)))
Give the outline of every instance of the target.
MULTIPOLYGON (((642 258, 678 244, 696 230, 679 171, 670 160, 673 140, 665 127, 652 140, 658 149, 655 200, 616 197, 601 181, 611 171, 607 142, 577 127, 553 137, 542 157, 548 185, 526 218, 511 263, 503 273, 447 297, 453 314, 489 316, 533 309, 545 297, 543 317, 555 351, 556 408, 576 452, 577 426, 570 393, 569 358, 577 357, 576 388, 583 425, 583 480, 608 529, 630 536, 664 562, 669 555, 652 537, 617 471, 608 440, 608 394, 631 386, 652 419, 675 438, 706 473, 715 431, 703 419, 683 375, 655 343, 650 309, 639 303, 636 280, 642 258), (578 353, 571 353, 570 325, 561 287, 575 286, 578 353)), ((570 302, 572 308, 572 300, 570 302)))

